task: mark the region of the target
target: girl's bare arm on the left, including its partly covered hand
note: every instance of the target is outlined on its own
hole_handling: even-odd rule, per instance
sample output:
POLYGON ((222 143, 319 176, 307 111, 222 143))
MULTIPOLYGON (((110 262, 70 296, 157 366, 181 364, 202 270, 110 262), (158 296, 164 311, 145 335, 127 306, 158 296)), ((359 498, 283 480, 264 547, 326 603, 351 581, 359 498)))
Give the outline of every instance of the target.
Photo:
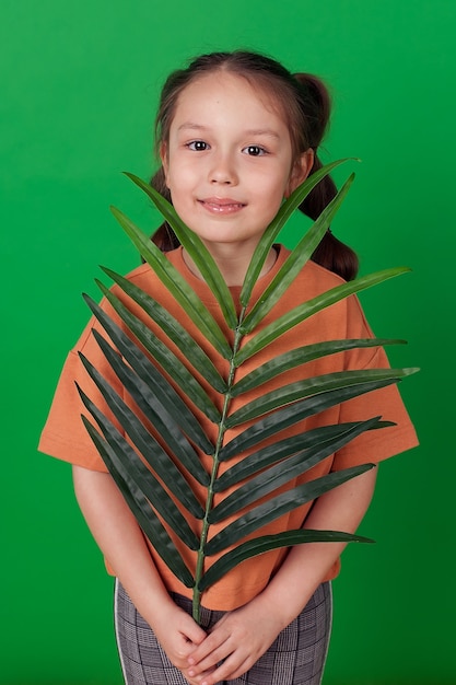
POLYGON ((121 492, 109 474, 80 466, 73 466, 73 481, 82 513, 117 578, 172 663, 187 669, 206 632, 169 597, 121 492))

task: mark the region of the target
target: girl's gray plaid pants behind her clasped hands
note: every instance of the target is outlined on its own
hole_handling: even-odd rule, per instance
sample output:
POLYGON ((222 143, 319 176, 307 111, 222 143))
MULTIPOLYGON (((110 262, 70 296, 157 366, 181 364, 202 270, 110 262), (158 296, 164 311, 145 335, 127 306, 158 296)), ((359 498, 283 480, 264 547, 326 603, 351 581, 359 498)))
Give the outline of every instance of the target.
MULTIPOLYGON (((176 604, 191 614, 191 602, 172 594, 176 604)), ((331 629, 330 583, 323 583, 304 611, 276 639, 269 650, 231 685, 319 685, 331 629)), ((202 608, 204 630, 223 612, 202 608)), ((122 585, 115 591, 116 637, 126 685, 188 685, 167 659, 148 623, 136 609, 122 585)), ((221 683, 220 685, 224 685, 221 683)))

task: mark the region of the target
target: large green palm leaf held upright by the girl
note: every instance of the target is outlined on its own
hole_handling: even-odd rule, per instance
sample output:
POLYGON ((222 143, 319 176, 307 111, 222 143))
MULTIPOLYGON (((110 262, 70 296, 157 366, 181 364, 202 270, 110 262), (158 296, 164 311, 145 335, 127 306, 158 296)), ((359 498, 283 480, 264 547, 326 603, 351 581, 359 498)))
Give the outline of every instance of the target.
POLYGON ((301 346, 285 351, 244 375, 237 383, 234 381, 236 370, 280 335, 325 307, 407 270, 388 269, 341 285, 297 305, 279 317, 273 325, 266 326, 257 333, 258 324, 278 303, 311 257, 343 200, 352 176, 301 240, 260 299, 253 303, 252 293, 267 255, 294 208, 331 169, 340 163, 335 162, 319 170, 282 205, 277 218, 259 241, 247 269, 242 288, 239 315, 236 314, 235 304, 222 275, 202 242, 183 224, 173 207, 155 190, 137 176, 128 174, 163 213, 197 265, 220 305, 224 321, 234 332, 232 344, 226 340, 212 314, 167 257, 122 212, 113 209, 120 225, 163 286, 212 346, 213 353, 208 356, 183 325, 150 293, 143 292, 128 279, 109 269, 104 269, 116 283, 116 294, 102 285, 100 287, 128 333, 125 333, 103 307, 87 298, 94 316, 109 336, 112 345, 97 330, 94 330, 94 336, 101 353, 119 379, 125 392, 130 395, 140 415, 137 415, 102 374, 82 357, 89 374, 121 427, 121 432, 82 393, 85 407, 103 436, 87 419, 84 419, 84 425, 144 534, 152 541, 172 572, 188 588, 192 588, 194 616, 197 620, 201 592, 245 559, 270 549, 306 542, 364 539, 334 531, 303 530, 272 536, 261 536, 260 531, 294 508, 312 502, 331 488, 371 468, 372 465, 366 464, 329 473, 296 487, 291 486, 306 471, 348 444, 354 437, 366 430, 383 429, 391 423, 381 421, 376 417, 366 421, 300 431, 292 437, 283 437, 282 431, 291 430, 300 421, 346 400, 397 383, 405 375, 412 373, 413 369, 352 370, 316 378, 303 375, 302 380, 284 384, 273 392, 267 392, 266 388, 257 399, 244 404, 236 411, 231 410, 233 397, 267 384, 279 374, 311 360, 354 348, 402 342, 377 338, 331 340, 301 346), (153 322, 153 328, 144 323, 142 315, 139 317, 138 314, 133 314, 129 302, 133 302, 143 311, 153 322), (157 330, 159 336, 153 333, 157 330), (248 341, 245 339, 247 335, 248 341), (157 337, 160 339, 156 339, 157 337), (184 356, 185 363, 169 351, 166 340, 173 341, 184 356), (221 368, 223 365, 229 368, 226 378, 222 378, 213 362, 217 357, 223 360, 221 368), (212 388, 210 392, 197 381, 199 378, 212 388), (209 418, 217 428, 215 440, 210 440, 206 436, 197 420, 196 409, 209 418), (245 428, 225 443, 226 431, 243 425, 245 428), (129 440, 122 436, 124 432, 129 440), (156 440, 156 436, 160 436, 160 441, 156 440), (265 446, 266 440, 272 441, 273 444, 268 442, 265 446), (165 444, 166 449, 162 444, 165 444), (256 452, 238 458, 252 449, 256 449, 256 452), (198 450, 211 455, 210 473, 207 473, 200 463, 198 450), (234 466, 219 475, 221 463, 234 457, 237 457, 234 466), (178 468, 176 464, 179 465, 178 468), (195 495, 191 478, 188 476, 197 478, 200 486, 204 486, 207 497, 203 506, 195 495), (285 491, 279 491, 288 486, 291 487, 285 491), (233 494, 222 498, 221 502, 214 506, 215 494, 223 494, 227 488, 234 488, 233 494), (195 521, 200 521, 198 535, 195 535, 192 526, 185 521, 179 504, 195 516, 195 521), (244 511, 241 514, 242 509, 244 511), (211 536, 211 525, 220 524, 227 518, 233 519, 233 522, 211 536), (198 550, 195 573, 190 572, 184 562, 183 556, 173 543, 171 532, 184 541, 188 549, 198 550), (253 539, 243 542, 247 536, 252 536, 253 539), (204 571, 204 559, 221 553, 221 558, 204 571))

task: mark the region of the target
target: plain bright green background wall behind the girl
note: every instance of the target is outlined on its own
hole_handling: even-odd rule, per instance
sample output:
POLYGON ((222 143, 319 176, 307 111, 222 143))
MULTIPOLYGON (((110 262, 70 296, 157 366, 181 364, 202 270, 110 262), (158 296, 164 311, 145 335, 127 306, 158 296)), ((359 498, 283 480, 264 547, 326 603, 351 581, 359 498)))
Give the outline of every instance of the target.
MULTIPOLYGON (((159 86, 206 50, 248 47, 331 84, 326 158, 355 155, 334 230, 362 270, 411 275, 363 297, 375 332, 422 367, 402 395, 418 450, 381 467, 335 582, 325 685, 456 683, 453 0, 2 0, 0 683, 116 685, 112 581, 74 503, 70 469, 36 452, 98 264, 137 255, 109 204, 156 223, 120 175, 147 176, 159 86)), ((348 169, 343 173, 348 173, 348 169)), ((343 174, 340 174, 341 177, 343 174)), ((302 222, 294 222, 292 242, 302 222)))

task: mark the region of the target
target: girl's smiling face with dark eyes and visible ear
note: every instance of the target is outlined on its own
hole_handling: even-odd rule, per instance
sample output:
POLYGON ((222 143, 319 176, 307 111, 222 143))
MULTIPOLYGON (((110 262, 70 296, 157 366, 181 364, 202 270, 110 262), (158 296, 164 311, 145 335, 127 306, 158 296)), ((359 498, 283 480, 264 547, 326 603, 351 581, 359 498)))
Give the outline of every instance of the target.
POLYGON ((179 95, 162 162, 174 208, 213 253, 253 252, 282 199, 308 174, 293 164, 288 127, 271 98, 218 71, 179 95))

